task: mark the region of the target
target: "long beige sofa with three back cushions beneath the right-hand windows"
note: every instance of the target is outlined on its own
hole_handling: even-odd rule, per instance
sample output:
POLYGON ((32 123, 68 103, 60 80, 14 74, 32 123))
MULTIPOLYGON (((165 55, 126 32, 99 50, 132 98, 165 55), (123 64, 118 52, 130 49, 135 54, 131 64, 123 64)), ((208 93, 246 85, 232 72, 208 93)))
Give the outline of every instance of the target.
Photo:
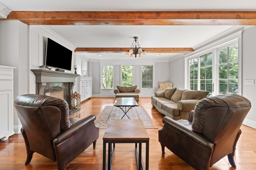
POLYGON ((183 90, 167 88, 165 91, 155 92, 151 97, 151 104, 156 109, 174 120, 188 120, 189 113, 194 110, 196 103, 209 94, 202 90, 183 90))

